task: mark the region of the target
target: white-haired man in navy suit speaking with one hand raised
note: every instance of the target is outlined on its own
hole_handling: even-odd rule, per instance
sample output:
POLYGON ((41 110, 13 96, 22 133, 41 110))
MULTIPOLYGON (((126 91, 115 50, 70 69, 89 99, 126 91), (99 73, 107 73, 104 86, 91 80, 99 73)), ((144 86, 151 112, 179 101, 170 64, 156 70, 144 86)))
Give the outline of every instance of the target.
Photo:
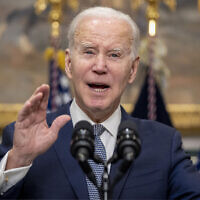
MULTIPOLYGON (((0 147, 2 157, 8 152, 1 162, 3 198, 98 199, 70 154, 73 126, 80 120, 101 123, 105 130, 100 137, 110 158, 120 122, 130 119, 138 127, 142 150, 114 188, 113 199, 200 199, 200 176, 181 148, 180 134, 131 118, 120 107, 138 68, 138 34, 129 16, 111 8, 90 8, 75 17, 66 50, 74 100, 46 116, 49 87, 42 85, 16 123, 5 128, 0 147)), ((118 165, 112 164, 111 179, 118 165)))

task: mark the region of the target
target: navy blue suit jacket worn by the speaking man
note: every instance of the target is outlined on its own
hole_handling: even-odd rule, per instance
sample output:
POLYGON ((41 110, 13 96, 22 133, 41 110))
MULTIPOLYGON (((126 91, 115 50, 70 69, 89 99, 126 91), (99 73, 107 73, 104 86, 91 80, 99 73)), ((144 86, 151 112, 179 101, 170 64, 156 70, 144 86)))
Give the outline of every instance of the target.
MULTIPOLYGON (((47 115, 49 126, 69 105, 47 115)), ((180 134, 163 124, 131 118, 122 109, 122 120, 131 119, 142 141, 139 157, 115 186, 113 199, 200 199, 200 174, 181 148, 180 134)), ((88 199, 85 175, 71 156, 72 122, 59 133, 57 141, 38 156, 23 180, 1 198, 88 199)), ((0 156, 11 148, 14 124, 7 126, 0 156)), ((111 180, 119 162, 111 167, 111 180)))

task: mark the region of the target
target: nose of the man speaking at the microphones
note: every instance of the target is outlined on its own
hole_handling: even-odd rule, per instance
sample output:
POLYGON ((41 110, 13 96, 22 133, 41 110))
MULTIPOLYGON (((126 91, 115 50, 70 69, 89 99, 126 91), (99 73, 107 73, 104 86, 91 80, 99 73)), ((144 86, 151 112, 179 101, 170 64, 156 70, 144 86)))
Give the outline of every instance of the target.
POLYGON ((97 74, 105 74, 107 72, 106 56, 99 54, 96 56, 95 63, 92 67, 93 72, 97 74))

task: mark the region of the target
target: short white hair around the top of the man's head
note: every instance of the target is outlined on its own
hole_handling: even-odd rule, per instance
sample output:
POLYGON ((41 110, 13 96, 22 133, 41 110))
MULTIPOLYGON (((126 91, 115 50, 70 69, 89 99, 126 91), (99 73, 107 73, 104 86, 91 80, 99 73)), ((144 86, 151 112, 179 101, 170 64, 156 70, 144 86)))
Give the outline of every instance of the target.
POLYGON ((74 33, 78 27, 80 21, 84 17, 106 17, 106 18, 117 18, 126 21, 132 30, 132 53, 134 58, 138 55, 138 46, 140 33, 136 23, 131 19, 129 15, 126 15, 118 10, 108 7, 92 7, 80 12, 71 22, 68 30, 68 42, 69 48, 72 49, 74 45, 74 33))

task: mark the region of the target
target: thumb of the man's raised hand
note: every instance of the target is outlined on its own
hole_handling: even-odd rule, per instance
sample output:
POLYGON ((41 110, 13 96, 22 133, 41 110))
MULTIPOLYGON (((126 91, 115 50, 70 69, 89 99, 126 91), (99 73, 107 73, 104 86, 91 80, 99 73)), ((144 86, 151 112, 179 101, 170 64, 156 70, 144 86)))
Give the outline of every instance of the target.
POLYGON ((54 134, 57 134, 59 132, 59 130, 71 119, 71 117, 69 115, 61 115, 59 117, 57 117, 52 125, 51 125, 51 132, 53 132, 54 134))

